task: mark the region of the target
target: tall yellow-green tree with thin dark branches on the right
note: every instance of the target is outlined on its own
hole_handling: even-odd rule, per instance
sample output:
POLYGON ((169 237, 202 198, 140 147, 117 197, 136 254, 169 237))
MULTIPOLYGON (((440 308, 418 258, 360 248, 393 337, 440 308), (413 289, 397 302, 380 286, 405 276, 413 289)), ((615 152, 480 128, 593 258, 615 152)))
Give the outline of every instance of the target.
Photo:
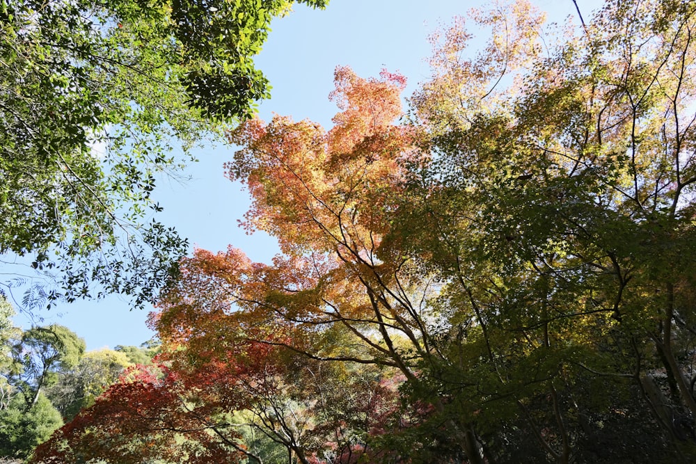
MULTIPOLYGON (((484 430, 500 434, 516 416, 549 461, 583 456, 607 433, 597 424, 616 419, 588 395, 608 385, 632 398, 615 446, 688 435, 670 424, 693 414, 672 349, 674 333, 690 330, 675 311, 692 312, 679 263, 693 253, 682 242, 693 234, 693 14, 688 2, 619 2, 544 49, 537 21, 493 13, 480 17, 510 47, 467 59, 461 23, 436 44, 434 79, 413 99, 434 156, 413 177, 420 207, 409 218, 431 215, 437 227, 422 223, 409 243, 434 247, 428 269, 451 282, 441 305, 457 308, 448 336, 460 354, 432 381, 466 379, 478 398, 508 403, 470 403, 487 445, 484 430), (477 375, 457 374, 462 358, 477 375), (667 373, 671 410, 655 369, 667 373)), ((667 452, 655 445, 641 446, 667 452)))

